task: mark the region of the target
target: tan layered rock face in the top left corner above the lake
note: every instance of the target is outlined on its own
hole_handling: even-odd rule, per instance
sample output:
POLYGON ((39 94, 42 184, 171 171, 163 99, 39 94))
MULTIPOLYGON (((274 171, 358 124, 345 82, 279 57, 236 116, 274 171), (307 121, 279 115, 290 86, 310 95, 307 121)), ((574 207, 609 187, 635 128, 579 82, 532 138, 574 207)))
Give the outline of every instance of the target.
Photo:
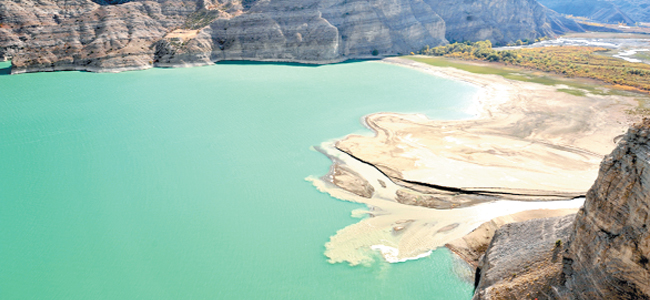
POLYGON ((0 59, 12 59, 12 72, 147 68, 151 45, 196 9, 193 1, 3 0, 0 59))

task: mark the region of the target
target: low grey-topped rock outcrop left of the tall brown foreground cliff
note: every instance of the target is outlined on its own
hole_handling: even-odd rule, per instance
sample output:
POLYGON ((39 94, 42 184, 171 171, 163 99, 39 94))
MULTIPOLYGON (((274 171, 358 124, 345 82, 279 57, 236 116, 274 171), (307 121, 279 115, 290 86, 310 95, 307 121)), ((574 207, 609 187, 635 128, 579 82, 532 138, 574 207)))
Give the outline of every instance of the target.
POLYGON ((562 252, 574 219, 533 219, 497 230, 477 268, 472 299, 553 298, 563 283, 562 252))

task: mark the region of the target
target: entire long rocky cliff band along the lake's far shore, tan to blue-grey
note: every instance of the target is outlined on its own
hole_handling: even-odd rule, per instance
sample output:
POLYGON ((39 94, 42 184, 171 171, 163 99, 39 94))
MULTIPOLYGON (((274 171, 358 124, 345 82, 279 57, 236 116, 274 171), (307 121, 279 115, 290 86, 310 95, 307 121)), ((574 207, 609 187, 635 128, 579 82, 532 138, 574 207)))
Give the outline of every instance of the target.
POLYGON ((552 35, 534 0, 0 0, 12 72, 329 63, 552 35))

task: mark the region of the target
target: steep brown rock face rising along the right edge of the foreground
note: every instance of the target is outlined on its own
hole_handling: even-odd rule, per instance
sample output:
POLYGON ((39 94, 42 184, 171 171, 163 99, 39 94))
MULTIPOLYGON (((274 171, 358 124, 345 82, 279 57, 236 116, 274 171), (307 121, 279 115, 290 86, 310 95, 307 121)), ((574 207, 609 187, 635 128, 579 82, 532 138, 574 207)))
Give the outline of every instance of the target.
POLYGON ((576 299, 650 299, 650 121, 605 158, 566 255, 576 299))

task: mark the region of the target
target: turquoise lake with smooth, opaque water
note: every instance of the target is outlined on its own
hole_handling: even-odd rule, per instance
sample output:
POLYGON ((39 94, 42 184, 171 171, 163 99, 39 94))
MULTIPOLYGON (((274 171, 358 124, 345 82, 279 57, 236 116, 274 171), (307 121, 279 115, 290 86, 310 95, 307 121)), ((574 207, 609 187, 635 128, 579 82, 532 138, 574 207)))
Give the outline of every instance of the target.
POLYGON ((328 263, 363 206, 305 178, 364 115, 476 91, 379 62, 0 75, 0 299, 469 299, 447 249, 328 263))

